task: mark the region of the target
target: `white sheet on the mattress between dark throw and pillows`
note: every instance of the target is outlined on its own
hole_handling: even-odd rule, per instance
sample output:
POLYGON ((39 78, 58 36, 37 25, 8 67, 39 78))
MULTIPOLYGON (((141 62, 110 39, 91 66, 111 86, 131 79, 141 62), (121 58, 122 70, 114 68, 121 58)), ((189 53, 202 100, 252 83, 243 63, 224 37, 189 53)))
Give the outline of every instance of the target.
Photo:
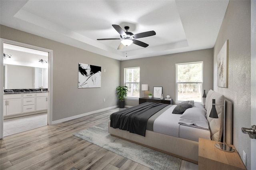
POLYGON ((198 138, 210 139, 210 130, 198 128, 194 125, 180 125, 178 122, 182 114, 172 114, 176 105, 173 105, 162 113, 154 121, 153 131, 174 137, 185 138, 198 142, 198 138))

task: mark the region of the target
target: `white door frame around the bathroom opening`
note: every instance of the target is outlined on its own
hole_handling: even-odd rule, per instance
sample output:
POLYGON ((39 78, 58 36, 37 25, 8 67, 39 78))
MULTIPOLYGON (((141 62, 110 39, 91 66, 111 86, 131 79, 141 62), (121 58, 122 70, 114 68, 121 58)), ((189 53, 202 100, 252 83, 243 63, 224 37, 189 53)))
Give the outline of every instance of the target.
MULTIPOLYGON (((52 125, 52 57, 53 57, 53 50, 51 49, 46 49, 46 48, 42 48, 42 47, 37 47, 34 45, 29 45, 26 43, 21 43, 21 42, 16 42, 16 41, 12 41, 12 40, 7 40, 7 39, 3 39, 0 38, 0 54, 3 56, 4 53, 4 43, 10 43, 13 45, 18 45, 18 46, 22 46, 22 47, 27 47, 27 48, 32 48, 32 49, 37 49, 40 51, 45 51, 49 53, 48 56, 48 125, 52 125)), ((4 89, 3 86, 3 79, 4 79, 4 75, 3 75, 3 67, 4 65, 4 61, 3 61, 3 57, 0 59, 0 89, 4 89)), ((4 114, 3 114, 3 97, 4 97, 4 93, 2 91, 2 93, 0 93, 0 139, 3 138, 4 135, 4 114)))

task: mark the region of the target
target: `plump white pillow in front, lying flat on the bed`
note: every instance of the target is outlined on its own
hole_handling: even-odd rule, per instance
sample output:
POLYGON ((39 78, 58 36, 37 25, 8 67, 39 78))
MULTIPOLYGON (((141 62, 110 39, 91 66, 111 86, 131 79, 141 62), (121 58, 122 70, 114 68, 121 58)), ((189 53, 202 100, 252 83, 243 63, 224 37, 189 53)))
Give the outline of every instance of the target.
POLYGON ((192 107, 188 108, 180 117, 179 124, 194 125, 209 130, 209 123, 205 117, 206 110, 192 107))

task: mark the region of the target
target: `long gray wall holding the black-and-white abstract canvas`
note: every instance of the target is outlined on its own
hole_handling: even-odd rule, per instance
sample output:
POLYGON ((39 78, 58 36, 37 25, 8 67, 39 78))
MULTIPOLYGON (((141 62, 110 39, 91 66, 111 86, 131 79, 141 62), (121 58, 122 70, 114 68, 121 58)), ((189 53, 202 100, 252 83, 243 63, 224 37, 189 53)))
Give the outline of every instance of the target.
POLYGON ((0 36, 53 50, 53 121, 117 105, 120 61, 2 25, 0 36), (102 71, 101 88, 78 89, 79 62, 106 69, 106 73, 102 71))

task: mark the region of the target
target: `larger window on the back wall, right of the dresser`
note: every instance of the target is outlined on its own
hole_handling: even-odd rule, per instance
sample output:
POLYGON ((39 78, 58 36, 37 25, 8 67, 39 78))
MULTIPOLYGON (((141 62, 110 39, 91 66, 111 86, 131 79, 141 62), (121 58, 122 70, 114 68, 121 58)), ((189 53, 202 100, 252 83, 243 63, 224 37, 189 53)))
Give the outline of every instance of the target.
POLYGON ((202 102, 203 61, 176 64, 176 101, 202 102))

